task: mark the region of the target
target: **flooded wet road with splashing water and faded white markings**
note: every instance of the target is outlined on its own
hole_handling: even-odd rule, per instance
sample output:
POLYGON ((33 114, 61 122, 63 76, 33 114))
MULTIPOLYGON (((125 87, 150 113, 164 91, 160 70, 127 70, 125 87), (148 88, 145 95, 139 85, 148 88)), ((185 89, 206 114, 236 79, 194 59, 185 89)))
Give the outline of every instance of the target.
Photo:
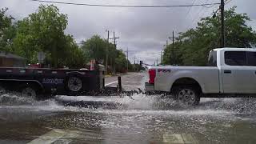
MULTIPOLYGON (((146 74, 122 75, 126 90, 146 74)), ((116 86, 117 78, 106 78, 116 86)), ((202 98, 184 107, 171 99, 58 96, 42 102, 0 97, 0 143, 254 143, 256 98, 202 98), (114 107, 62 106, 58 101, 110 102, 114 107)))

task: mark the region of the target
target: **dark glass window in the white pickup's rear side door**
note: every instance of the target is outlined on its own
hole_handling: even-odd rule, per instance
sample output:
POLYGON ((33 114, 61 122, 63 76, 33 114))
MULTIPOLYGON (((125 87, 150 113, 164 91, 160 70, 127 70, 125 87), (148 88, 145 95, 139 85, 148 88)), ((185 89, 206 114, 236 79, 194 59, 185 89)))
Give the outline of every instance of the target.
POLYGON ((245 51, 226 51, 225 63, 229 66, 246 66, 245 51))

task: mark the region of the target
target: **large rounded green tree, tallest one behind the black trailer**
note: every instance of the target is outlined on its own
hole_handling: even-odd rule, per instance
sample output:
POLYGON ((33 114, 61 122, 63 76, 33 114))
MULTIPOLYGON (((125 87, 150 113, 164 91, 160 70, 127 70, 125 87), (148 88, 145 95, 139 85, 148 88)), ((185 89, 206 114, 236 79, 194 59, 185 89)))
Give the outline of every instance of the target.
POLYGON ((74 66, 77 61, 82 62, 85 55, 78 54, 82 50, 78 50, 72 36, 64 33, 66 25, 66 14, 61 14, 56 6, 40 5, 38 12, 18 22, 14 52, 34 63, 38 62, 38 51, 43 51, 46 61, 54 67, 74 66), (74 58, 74 55, 79 57, 74 58))

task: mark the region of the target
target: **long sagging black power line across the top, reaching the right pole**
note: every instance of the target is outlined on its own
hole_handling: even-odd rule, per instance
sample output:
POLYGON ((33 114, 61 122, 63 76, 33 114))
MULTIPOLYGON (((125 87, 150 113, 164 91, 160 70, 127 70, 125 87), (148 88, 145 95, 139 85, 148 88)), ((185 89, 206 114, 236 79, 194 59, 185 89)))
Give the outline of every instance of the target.
POLYGON ((169 8, 169 7, 213 6, 213 5, 220 4, 215 2, 215 3, 203 3, 203 4, 193 4, 193 5, 128 6, 128 5, 102 5, 102 4, 74 3, 74 2, 55 2, 55 1, 46 1, 46 0, 30 0, 30 1, 76 5, 76 6, 126 7, 126 8, 169 8))

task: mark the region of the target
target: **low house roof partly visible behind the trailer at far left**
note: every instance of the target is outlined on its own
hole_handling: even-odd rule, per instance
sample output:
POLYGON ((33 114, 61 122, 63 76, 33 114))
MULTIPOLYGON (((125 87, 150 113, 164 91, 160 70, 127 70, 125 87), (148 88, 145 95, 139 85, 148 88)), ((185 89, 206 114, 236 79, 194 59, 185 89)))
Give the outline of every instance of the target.
POLYGON ((15 54, 0 52, 0 67, 25 67, 26 58, 15 54))

